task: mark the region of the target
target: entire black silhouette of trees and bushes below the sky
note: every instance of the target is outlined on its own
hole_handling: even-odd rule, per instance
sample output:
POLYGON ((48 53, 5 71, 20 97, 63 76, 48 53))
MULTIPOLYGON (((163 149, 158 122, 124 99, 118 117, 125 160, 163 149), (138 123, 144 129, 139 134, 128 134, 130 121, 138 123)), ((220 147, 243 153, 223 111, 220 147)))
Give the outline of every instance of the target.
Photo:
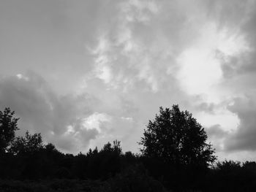
POLYGON ((61 153, 40 134, 15 137, 18 118, 0 112, 0 191, 253 191, 256 162, 216 162, 192 114, 160 107, 140 140, 140 154, 108 142, 78 155, 61 153))

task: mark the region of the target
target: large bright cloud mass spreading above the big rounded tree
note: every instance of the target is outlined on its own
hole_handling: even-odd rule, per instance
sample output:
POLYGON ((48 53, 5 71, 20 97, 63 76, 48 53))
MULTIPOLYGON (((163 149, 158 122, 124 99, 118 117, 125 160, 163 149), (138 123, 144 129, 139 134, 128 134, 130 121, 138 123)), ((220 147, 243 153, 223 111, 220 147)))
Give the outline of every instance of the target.
MULTIPOLYGON (((146 1, 116 4, 119 11, 112 20, 113 27, 97 34, 97 42, 89 47, 94 70, 87 77, 86 89, 95 85, 103 89, 94 90, 99 97, 108 98, 99 99, 101 112, 115 117, 113 122, 120 118, 118 112, 123 112, 141 130, 160 105, 178 103, 194 112, 203 126, 219 123, 217 129, 223 134, 235 130, 238 117, 227 110, 234 92, 225 78, 233 74, 227 67, 233 58, 251 51, 243 31, 212 17, 224 14, 219 12, 221 2, 214 4, 216 10, 204 1, 149 2, 150 6, 146 1), (175 9, 170 11, 170 7, 175 9), (122 97, 135 107, 129 115, 122 109, 122 97)), ((231 18, 226 19, 231 22, 231 18)), ((126 128, 120 130, 126 132, 126 128)), ((219 149, 223 141, 218 140, 222 145, 219 149)))

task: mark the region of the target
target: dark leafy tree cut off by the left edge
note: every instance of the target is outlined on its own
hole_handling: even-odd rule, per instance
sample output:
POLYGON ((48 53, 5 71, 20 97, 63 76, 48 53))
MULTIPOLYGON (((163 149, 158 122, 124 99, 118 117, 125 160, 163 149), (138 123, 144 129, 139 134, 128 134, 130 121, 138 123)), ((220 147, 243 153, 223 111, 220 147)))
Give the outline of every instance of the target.
POLYGON ((18 130, 19 118, 14 118, 14 111, 10 108, 5 108, 3 112, 0 111, 0 153, 4 153, 10 142, 15 137, 15 131, 18 130))

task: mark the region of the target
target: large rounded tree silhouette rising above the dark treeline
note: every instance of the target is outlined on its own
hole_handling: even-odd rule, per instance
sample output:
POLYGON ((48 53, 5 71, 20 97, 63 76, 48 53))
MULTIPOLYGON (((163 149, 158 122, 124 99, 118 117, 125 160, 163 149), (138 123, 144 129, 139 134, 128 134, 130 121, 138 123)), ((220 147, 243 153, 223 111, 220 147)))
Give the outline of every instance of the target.
POLYGON ((172 109, 159 108, 155 120, 149 120, 140 141, 144 156, 158 158, 178 166, 200 164, 208 166, 215 161, 214 150, 206 143, 204 128, 192 114, 180 111, 178 105, 172 109))

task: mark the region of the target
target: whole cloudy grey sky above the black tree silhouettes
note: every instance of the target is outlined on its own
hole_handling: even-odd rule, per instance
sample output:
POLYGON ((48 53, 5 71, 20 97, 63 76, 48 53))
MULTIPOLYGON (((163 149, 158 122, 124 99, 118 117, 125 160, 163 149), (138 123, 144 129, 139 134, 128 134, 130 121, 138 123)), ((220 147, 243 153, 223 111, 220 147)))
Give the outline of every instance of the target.
POLYGON ((178 104, 219 160, 256 161, 256 1, 0 1, 0 110, 64 153, 138 153, 178 104))

